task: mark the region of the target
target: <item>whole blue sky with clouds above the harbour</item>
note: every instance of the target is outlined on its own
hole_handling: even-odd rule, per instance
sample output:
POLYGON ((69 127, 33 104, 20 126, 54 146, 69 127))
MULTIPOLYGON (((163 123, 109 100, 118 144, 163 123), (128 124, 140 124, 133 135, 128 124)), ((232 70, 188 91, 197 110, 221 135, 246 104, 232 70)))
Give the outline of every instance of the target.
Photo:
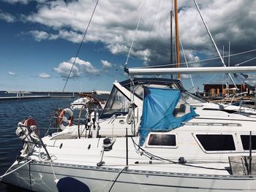
MULTIPOLYGON (((225 63, 230 42, 230 66, 255 64, 256 1, 197 3, 225 63)), ((99 0, 80 47, 96 4, 96 0, 0 0, 0 90, 62 91, 75 62, 66 91, 110 91, 114 81, 129 78, 126 63, 127 67, 170 64, 172 1, 99 0)), ((222 66, 194 1, 178 1, 178 21, 184 48, 181 67, 186 67, 185 58, 189 67, 222 66)), ((248 75, 247 79, 238 75, 236 82, 255 85, 256 75, 248 75)), ((192 91, 189 75, 181 80, 192 91)), ((227 82, 227 76, 192 74, 192 80, 203 91, 203 84, 227 82)))

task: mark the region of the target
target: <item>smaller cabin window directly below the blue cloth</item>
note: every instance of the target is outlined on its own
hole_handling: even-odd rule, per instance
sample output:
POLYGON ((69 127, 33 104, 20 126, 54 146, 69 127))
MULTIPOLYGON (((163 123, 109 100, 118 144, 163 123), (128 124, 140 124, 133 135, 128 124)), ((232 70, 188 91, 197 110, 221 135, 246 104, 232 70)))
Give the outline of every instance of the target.
POLYGON ((148 145, 154 146, 176 146, 176 135, 174 134, 151 134, 148 145))

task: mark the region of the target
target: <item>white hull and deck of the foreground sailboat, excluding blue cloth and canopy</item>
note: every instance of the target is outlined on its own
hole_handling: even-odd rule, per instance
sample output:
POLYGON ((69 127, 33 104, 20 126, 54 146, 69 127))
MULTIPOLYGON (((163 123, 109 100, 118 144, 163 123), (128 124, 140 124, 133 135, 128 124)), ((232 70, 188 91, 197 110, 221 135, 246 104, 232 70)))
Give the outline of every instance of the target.
MULTIPOLYGON (((195 107, 198 116, 192 120, 171 131, 151 131, 140 145, 142 101, 135 96, 134 104, 138 107, 132 114, 125 109, 129 104, 128 89, 115 82, 113 93, 118 95, 109 100, 114 115, 102 118, 97 127, 88 130, 73 125, 43 137, 39 143, 43 147, 35 145, 27 153, 20 151, 20 159, 33 161, 3 181, 31 191, 58 191, 57 185, 65 177, 84 183, 90 191, 256 191, 255 147, 252 167, 248 166, 253 175, 243 175, 249 172, 242 163, 236 172, 237 167, 233 169, 230 161, 233 157, 248 157, 249 135, 256 139, 254 118, 215 108, 207 110, 203 104, 195 107), (120 113, 116 113, 120 107, 120 113), (134 122, 129 123, 128 116, 133 115, 134 122), (78 130, 88 134, 82 131, 79 139, 78 130), (166 140, 168 143, 162 142, 166 140), (125 169, 127 161, 129 166, 125 169)), ((106 108, 112 109, 108 104, 106 108)), ((191 110, 188 104, 185 108, 178 105, 175 117, 179 117, 179 112, 184 115, 188 109, 191 110)), ((106 110, 106 117, 108 112, 111 110, 106 110)), ((23 164, 24 161, 16 161, 12 170, 23 164)))

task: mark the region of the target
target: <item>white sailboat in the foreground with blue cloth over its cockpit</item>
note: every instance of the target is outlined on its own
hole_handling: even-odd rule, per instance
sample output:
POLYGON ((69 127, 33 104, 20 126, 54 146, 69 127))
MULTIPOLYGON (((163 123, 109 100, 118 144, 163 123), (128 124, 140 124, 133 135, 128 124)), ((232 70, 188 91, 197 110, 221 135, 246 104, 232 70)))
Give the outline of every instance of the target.
MULTIPOLYGON (((183 71, 191 73, 159 70, 183 71)), ((64 131, 41 138, 28 118, 16 131, 23 149, 1 181, 31 191, 256 191, 256 120, 188 101, 202 103, 180 80, 133 77, 113 83, 89 127, 64 125, 62 116, 64 131)))

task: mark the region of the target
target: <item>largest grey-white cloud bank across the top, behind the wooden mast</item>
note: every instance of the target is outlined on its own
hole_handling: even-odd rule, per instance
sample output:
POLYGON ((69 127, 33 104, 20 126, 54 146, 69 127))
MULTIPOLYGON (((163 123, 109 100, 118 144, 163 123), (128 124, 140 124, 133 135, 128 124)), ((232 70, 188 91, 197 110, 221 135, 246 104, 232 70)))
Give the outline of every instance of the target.
MULTIPOLYGON (((29 34, 37 41, 60 38, 80 42, 94 4, 95 1, 91 0, 41 1, 36 12, 26 15, 26 21, 40 23, 50 30, 30 31, 29 34)), ((135 37, 132 57, 140 58, 146 66, 170 63, 171 1, 146 1, 143 4, 144 1, 136 0, 99 1, 86 41, 103 42, 111 53, 127 55, 135 37), (135 36, 140 15, 140 26, 135 36)), ((183 0, 178 4, 180 38, 184 49, 191 52, 188 61, 216 57, 217 53, 193 1, 183 0)), ((254 48, 256 1, 250 1, 249 6, 243 6, 243 0, 198 0, 198 4, 220 50, 227 41, 232 42, 233 53, 254 48)), ((221 66, 219 61, 216 64, 221 66)))

